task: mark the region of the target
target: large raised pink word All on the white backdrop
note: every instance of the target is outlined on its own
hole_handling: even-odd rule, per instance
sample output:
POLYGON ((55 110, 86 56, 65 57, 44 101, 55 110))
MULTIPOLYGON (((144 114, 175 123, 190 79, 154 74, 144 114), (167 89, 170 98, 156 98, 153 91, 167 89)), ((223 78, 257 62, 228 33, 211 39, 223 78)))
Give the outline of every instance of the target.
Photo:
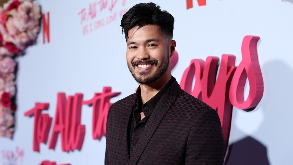
POLYGON ((81 125, 81 103, 83 94, 68 96, 58 93, 55 122, 49 144, 49 149, 55 149, 58 135, 61 136, 62 151, 80 150, 84 142, 86 126, 81 125))

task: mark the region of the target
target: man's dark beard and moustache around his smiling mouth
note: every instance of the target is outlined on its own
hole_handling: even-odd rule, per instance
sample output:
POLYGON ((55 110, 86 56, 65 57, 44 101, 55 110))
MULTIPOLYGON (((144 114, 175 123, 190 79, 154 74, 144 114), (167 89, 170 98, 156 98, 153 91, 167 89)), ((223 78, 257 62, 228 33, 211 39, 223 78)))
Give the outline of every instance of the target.
POLYGON ((157 59, 137 60, 137 61, 133 61, 131 65, 128 64, 127 62, 127 65, 128 65, 130 73, 132 74, 133 78, 135 79, 135 81, 137 81, 138 84, 151 84, 152 82, 158 80, 164 73, 166 73, 169 66, 168 58, 169 58, 169 52, 168 52, 167 58, 164 59, 161 62, 161 64, 159 64, 159 66, 158 66, 157 59), (153 67, 156 66, 157 68, 155 71, 152 71, 153 68, 151 68, 151 70, 149 71, 136 72, 135 67, 138 64, 151 64, 153 67), (151 74, 151 72, 156 72, 156 73, 154 73, 154 75, 149 75, 151 74))

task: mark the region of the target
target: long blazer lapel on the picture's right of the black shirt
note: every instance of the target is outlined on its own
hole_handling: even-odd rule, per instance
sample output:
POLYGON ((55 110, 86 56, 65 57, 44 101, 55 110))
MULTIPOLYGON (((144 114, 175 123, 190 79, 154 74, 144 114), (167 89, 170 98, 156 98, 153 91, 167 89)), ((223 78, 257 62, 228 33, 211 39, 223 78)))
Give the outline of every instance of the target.
POLYGON ((154 108, 147 124, 144 127, 140 137, 138 138, 136 147, 132 151, 132 157, 128 164, 136 164, 142 155, 145 147, 147 147, 148 142, 151 140, 154 132, 161 123, 162 119, 167 114, 168 110, 171 108, 175 102, 181 88, 174 78, 173 83, 169 86, 166 93, 160 99, 156 107, 154 108))

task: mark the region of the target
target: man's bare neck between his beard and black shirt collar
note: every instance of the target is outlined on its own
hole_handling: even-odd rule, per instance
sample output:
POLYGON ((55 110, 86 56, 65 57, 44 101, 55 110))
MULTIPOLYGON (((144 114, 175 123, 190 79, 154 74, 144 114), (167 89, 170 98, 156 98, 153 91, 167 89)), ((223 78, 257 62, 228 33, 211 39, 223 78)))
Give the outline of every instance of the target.
POLYGON ((153 98, 163 87, 170 81, 172 75, 161 76, 158 80, 151 84, 141 84, 140 93, 142 96, 142 103, 146 103, 151 98, 153 98))

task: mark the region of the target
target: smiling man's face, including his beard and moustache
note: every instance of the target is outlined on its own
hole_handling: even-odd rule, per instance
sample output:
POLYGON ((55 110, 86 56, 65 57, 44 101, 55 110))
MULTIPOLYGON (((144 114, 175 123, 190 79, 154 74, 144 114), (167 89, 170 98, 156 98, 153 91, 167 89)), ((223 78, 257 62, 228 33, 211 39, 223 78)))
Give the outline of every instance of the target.
POLYGON ((165 74, 171 40, 168 42, 168 38, 161 35, 159 26, 137 26, 129 30, 128 36, 126 59, 134 79, 139 84, 150 84, 165 74))

